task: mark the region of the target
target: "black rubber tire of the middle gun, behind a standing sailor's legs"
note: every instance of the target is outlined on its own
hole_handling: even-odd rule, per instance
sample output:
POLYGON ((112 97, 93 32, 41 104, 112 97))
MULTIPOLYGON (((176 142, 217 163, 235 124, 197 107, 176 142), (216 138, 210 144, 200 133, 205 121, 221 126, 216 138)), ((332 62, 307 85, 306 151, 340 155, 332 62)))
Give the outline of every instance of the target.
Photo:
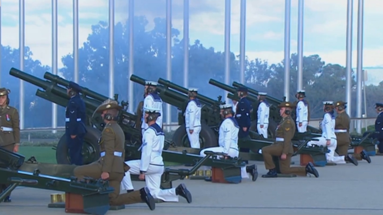
MULTIPOLYGON (((208 147, 217 147, 218 146, 218 138, 215 134, 215 132, 205 123, 201 123, 201 132, 200 132, 200 138, 203 138, 204 145, 202 145, 200 148, 208 148, 208 147)), ((190 144, 186 145, 182 143, 182 140, 188 140, 185 124, 180 125, 178 129, 174 132, 174 135, 172 137, 172 141, 179 147, 190 147, 190 144)))

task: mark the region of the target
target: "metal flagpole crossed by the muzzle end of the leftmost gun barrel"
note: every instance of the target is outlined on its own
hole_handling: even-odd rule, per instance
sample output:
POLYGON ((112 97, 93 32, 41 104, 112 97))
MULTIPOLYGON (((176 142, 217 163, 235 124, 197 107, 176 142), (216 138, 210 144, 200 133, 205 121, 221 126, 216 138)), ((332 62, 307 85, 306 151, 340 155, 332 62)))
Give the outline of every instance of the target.
MULTIPOLYGON (((24 71, 25 58, 25 0, 19 0, 19 51, 20 51, 20 70, 24 71)), ((24 129, 24 81, 20 79, 20 129, 24 129)))

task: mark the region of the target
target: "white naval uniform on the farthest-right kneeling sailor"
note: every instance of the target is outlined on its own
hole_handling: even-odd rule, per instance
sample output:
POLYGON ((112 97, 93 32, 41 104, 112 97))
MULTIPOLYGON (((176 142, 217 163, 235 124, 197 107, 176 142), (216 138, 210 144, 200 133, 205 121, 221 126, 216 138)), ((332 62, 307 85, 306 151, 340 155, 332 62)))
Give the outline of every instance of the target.
POLYGON ((318 145, 318 146, 326 146, 327 140, 330 140, 330 145, 327 146, 327 149, 330 150, 329 153, 326 153, 326 160, 329 163, 346 163, 344 160, 344 156, 334 156, 337 140, 335 135, 335 117, 333 114, 327 112, 323 116, 322 120, 322 136, 318 137, 319 141, 313 141, 307 143, 308 146, 318 145))

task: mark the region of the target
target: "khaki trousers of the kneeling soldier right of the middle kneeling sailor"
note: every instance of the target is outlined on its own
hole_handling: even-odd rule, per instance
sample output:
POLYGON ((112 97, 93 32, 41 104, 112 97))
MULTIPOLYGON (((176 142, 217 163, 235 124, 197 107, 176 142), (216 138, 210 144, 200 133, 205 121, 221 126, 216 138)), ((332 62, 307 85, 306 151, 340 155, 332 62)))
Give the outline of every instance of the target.
MULTIPOLYGON (((274 169, 273 156, 280 157, 282 155, 283 146, 273 144, 262 148, 262 155, 265 161, 266 169, 274 169)), ((291 167, 291 154, 286 156, 285 160, 279 159, 279 168, 282 174, 296 174, 298 176, 306 176, 306 167, 291 167)))

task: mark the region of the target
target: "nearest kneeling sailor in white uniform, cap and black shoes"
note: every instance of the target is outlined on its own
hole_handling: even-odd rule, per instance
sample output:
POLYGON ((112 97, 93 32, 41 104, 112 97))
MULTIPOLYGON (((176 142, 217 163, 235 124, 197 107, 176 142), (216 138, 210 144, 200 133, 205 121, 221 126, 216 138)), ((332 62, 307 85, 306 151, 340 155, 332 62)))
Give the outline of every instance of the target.
POLYGON ((145 130, 142 137, 141 160, 126 161, 125 164, 130 169, 125 173, 122 186, 133 189, 130 174, 139 175, 139 179, 145 180, 151 195, 155 199, 165 202, 178 202, 178 195, 184 197, 191 203, 191 194, 186 189, 185 184, 178 185, 177 188, 161 189, 161 176, 164 173, 164 161, 162 160, 162 150, 165 143, 165 134, 162 128, 156 123, 160 116, 160 109, 144 108, 145 123, 149 127, 145 130))

